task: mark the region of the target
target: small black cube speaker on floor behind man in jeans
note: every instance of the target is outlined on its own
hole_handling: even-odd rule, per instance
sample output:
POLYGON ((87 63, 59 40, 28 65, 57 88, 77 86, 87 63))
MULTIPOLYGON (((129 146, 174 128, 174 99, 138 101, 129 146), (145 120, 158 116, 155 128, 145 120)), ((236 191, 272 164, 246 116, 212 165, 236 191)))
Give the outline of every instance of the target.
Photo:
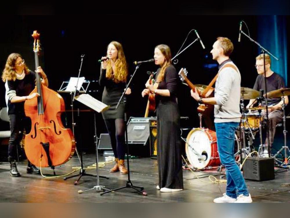
POLYGON ((274 158, 248 158, 243 166, 245 179, 266 181, 275 179, 274 158))

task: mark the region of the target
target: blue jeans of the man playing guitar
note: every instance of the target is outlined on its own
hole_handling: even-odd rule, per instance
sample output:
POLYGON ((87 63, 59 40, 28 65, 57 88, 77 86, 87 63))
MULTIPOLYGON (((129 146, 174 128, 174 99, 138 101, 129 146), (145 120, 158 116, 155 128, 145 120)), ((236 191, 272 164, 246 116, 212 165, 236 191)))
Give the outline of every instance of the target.
POLYGON ((237 198, 240 194, 249 195, 244 177, 234 157, 235 130, 238 125, 237 122, 215 123, 220 161, 226 168, 226 195, 231 198, 237 198))

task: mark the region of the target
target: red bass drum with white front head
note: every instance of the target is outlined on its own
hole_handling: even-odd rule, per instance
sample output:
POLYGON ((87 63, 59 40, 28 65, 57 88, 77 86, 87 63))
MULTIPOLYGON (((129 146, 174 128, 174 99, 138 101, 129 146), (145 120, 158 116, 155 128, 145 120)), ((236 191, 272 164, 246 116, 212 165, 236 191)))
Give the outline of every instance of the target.
MULTIPOLYGON (((186 138, 186 156, 189 163, 197 169, 220 166, 216 133, 205 128, 193 128, 186 138)), ((235 134, 235 151, 239 150, 238 137, 235 134)), ((238 161, 239 156, 236 156, 238 161)))

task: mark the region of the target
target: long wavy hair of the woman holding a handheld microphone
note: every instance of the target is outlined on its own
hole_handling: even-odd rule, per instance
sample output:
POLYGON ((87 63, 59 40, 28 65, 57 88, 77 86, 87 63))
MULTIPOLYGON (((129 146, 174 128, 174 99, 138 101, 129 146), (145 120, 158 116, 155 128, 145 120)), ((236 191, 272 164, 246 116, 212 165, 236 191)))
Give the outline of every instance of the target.
POLYGON ((127 76, 128 76, 128 66, 124 54, 123 47, 121 43, 112 41, 110 44, 113 44, 117 51, 117 59, 115 61, 115 66, 116 66, 116 72, 114 72, 113 75, 113 69, 112 69, 112 64, 111 61, 108 61, 107 69, 106 69, 106 78, 114 80, 115 83, 120 83, 123 82, 125 83, 127 81, 127 76))

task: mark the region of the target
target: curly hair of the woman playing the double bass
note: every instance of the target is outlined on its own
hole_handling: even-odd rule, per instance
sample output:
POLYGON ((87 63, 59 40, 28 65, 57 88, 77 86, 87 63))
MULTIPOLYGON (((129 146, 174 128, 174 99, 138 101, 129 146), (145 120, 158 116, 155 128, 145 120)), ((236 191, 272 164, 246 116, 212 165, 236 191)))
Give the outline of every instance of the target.
MULTIPOLYGON (((6 82, 6 80, 16 80, 16 71, 15 71, 15 62, 17 58, 22 58, 18 53, 12 53, 8 56, 5 68, 2 72, 2 80, 6 82)), ((24 73, 29 74, 29 69, 24 63, 24 73)))

